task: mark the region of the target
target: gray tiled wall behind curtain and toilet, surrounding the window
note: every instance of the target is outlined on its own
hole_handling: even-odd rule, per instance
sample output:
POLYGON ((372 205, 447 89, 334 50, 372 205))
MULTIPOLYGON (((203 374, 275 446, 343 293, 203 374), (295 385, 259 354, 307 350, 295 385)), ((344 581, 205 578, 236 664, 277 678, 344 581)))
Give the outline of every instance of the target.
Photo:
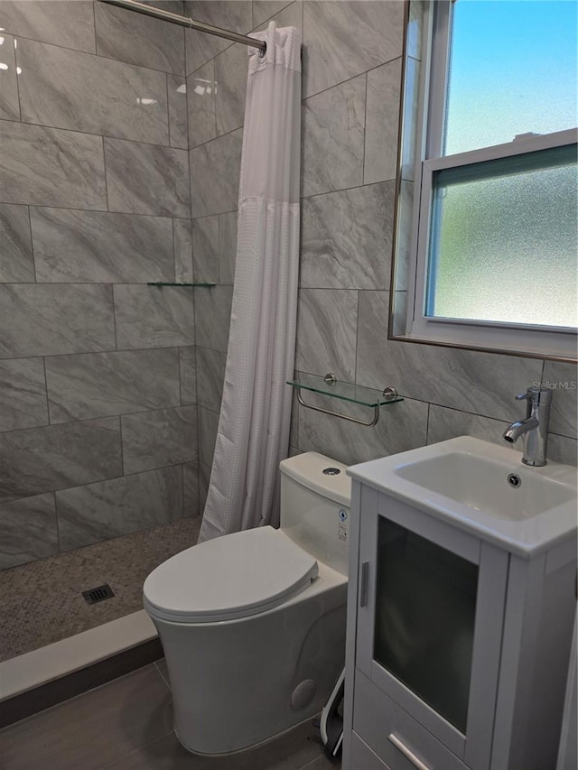
MULTIPOLYGON (((523 413, 514 396, 527 385, 547 382, 561 385, 554 394, 549 457, 575 464, 575 366, 387 339, 403 4, 233 0, 185 5, 196 18, 238 32, 262 28, 270 16, 280 26, 302 28, 296 369, 317 375, 331 371, 359 385, 392 385, 405 398, 382 409, 374 428, 312 412, 295 401, 292 451, 317 450, 354 463, 461 434, 501 442, 504 427, 523 413)), ((238 44, 188 34, 195 270, 221 284, 218 292, 203 294, 195 308, 202 499, 227 342, 229 224, 237 208, 247 53, 238 44)))

